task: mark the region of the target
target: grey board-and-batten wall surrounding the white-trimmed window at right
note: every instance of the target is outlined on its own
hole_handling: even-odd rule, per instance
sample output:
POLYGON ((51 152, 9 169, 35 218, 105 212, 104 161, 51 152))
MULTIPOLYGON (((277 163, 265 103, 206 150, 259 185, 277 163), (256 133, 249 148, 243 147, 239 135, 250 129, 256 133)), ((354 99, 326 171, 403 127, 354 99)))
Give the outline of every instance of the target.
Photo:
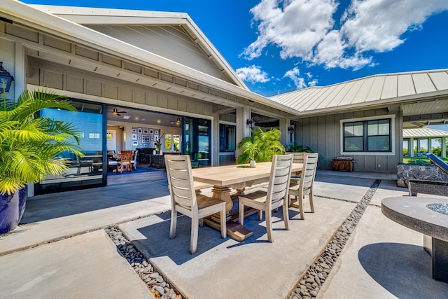
POLYGON ((314 116, 301 118, 297 122, 298 145, 309 146, 318 152, 324 160, 319 160, 318 169, 332 169, 331 160, 339 157, 353 157, 354 170, 358 172, 383 172, 395 173, 397 164, 402 160, 402 117, 400 112, 389 113, 387 109, 370 109, 365 111, 354 111, 348 113, 330 114, 328 116, 314 116), (395 115, 394 139, 395 155, 363 155, 341 153, 341 128, 340 120, 351 118, 369 118, 395 115), (381 165, 381 166, 379 166, 381 165))

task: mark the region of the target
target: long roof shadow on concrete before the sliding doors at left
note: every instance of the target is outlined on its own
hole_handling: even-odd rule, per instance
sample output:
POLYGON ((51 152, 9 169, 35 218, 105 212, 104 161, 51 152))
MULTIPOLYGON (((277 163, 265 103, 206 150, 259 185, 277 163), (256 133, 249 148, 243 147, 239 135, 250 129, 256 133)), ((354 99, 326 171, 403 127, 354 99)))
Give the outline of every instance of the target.
POLYGON ((167 196, 169 195, 167 186, 167 180, 160 179, 37 195, 27 200, 25 215, 20 224, 45 221, 167 196))

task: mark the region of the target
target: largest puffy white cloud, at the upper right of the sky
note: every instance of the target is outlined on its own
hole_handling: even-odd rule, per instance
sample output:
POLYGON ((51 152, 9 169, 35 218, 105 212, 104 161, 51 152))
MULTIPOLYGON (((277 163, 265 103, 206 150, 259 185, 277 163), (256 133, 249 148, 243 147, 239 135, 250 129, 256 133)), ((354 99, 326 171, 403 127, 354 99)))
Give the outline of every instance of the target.
POLYGON ((372 64, 372 52, 393 50, 405 42, 402 34, 448 9, 446 0, 352 0, 338 28, 333 19, 338 5, 335 0, 262 0, 251 9, 258 38, 241 56, 253 60, 276 46, 283 59, 360 69, 372 64))

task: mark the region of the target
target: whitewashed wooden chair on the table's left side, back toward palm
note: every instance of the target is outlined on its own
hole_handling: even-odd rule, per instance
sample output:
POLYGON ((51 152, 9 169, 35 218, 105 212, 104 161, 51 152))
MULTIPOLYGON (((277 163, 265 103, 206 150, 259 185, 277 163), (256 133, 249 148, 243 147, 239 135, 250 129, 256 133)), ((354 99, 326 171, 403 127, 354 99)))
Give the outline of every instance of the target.
POLYGON ((171 226, 169 238, 176 237, 177 213, 191 218, 190 253, 197 249, 200 219, 221 214, 221 237, 227 237, 225 202, 202 194, 196 194, 190 155, 165 155, 168 187, 171 195, 171 226))

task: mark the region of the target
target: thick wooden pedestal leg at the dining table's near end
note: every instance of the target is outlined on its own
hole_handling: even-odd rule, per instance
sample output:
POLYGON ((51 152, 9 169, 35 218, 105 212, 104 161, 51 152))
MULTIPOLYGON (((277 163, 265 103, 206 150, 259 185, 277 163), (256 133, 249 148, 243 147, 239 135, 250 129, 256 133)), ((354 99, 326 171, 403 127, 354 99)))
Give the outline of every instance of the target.
MULTIPOLYGON (((226 223, 228 236, 238 242, 244 241, 248 237, 251 237, 253 232, 247 228, 244 228, 243 225, 232 221, 232 216, 229 214, 233 207, 232 197, 230 197, 231 188, 228 186, 214 186, 212 190, 214 198, 225 201, 225 212, 228 214, 228 221, 226 223)), ((221 230, 221 215, 214 214, 211 217, 204 218, 204 223, 212 228, 215 228, 216 230, 221 230)))

